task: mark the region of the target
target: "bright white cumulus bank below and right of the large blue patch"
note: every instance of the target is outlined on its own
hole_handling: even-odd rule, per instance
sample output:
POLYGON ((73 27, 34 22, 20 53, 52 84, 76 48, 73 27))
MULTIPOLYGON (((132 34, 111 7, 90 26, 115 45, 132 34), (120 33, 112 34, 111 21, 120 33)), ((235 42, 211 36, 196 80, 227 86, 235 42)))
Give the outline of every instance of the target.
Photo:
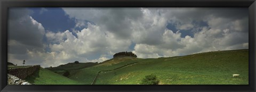
MULTIPOLYGON (((130 40, 117 39, 114 34, 102 30, 97 25, 91 23, 87 25, 87 28, 75 33, 77 37, 69 30, 46 34, 49 40, 54 41, 55 38, 59 38, 58 43, 49 44, 51 49, 49 58, 55 61, 55 64, 52 64, 53 66, 60 63, 69 63, 70 61, 103 62, 109 59, 106 56, 110 57, 113 53, 129 49, 130 40)), ((47 63, 51 64, 52 62, 47 63)))

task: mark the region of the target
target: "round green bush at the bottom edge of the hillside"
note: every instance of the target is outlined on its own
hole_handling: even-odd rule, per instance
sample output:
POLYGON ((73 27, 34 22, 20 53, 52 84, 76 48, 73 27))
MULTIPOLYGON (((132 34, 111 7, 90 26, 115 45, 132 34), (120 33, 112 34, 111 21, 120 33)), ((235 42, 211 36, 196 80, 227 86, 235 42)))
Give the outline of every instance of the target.
POLYGON ((159 83, 159 80, 157 79, 156 75, 154 75, 154 74, 145 76, 145 78, 143 78, 141 80, 142 85, 158 85, 158 83, 159 83))

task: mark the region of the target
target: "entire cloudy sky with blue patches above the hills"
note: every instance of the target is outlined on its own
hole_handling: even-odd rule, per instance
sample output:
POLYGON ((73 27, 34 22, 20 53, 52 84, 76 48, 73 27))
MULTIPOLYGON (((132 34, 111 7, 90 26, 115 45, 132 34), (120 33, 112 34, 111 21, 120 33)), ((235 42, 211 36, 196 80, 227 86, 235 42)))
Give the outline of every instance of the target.
POLYGON ((58 66, 244 49, 247 8, 11 8, 8 61, 58 66))

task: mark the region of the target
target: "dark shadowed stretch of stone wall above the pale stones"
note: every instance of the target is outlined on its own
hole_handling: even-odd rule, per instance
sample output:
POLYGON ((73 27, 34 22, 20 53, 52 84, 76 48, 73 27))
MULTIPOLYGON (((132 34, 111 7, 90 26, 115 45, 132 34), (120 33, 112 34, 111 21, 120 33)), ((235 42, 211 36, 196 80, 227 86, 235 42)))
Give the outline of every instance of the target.
POLYGON ((40 65, 34 65, 29 68, 18 68, 18 69, 10 69, 8 70, 8 74, 16 76, 20 79, 25 79, 27 76, 30 76, 35 71, 39 70, 41 67, 40 65))

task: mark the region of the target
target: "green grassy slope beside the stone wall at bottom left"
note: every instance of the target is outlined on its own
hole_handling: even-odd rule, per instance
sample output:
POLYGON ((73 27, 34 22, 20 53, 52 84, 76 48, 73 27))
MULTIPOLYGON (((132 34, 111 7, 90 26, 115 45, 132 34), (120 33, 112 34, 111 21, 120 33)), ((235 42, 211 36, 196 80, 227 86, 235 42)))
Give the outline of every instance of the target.
POLYGON ((26 78, 26 81, 36 85, 82 85, 78 81, 63 77, 47 69, 39 69, 33 75, 26 78))

